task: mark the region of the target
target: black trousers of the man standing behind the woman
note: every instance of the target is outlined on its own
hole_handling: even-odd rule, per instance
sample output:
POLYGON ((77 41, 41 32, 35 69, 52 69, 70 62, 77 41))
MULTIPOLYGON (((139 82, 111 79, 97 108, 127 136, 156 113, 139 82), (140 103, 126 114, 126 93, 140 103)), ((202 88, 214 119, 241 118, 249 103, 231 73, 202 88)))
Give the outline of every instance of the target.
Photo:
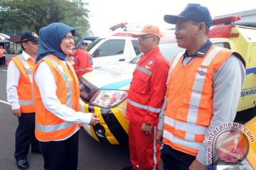
POLYGON ((21 113, 18 118, 14 153, 16 160, 26 159, 30 145, 32 152, 40 151, 39 142, 35 137, 35 115, 36 113, 21 113))

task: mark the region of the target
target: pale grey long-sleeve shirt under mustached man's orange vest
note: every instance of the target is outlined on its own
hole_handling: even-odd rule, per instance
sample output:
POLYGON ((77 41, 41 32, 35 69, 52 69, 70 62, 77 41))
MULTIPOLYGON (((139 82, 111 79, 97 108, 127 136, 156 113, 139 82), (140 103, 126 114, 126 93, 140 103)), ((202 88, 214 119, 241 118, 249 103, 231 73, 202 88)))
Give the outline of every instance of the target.
MULTIPOLYGON (((183 64, 187 64, 183 60, 183 64)), ((231 55, 228 60, 213 74, 213 118, 206 132, 205 140, 199 149, 196 159, 203 165, 206 164, 207 139, 210 132, 223 123, 232 122, 238 109, 238 101, 243 82, 245 81, 245 67, 242 62, 231 55)), ((163 109, 166 106, 164 101, 163 109)), ((164 110, 159 114, 159 130, 164 130, 164 110)))

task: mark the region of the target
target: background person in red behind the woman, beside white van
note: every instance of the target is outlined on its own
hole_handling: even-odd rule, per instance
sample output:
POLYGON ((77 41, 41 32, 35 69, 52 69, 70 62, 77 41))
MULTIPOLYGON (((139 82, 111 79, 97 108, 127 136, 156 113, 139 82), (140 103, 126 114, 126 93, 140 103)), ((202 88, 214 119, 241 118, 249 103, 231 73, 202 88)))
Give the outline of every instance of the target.
POLYGON ((80 49, 76 50, 74 53, 75 63, 74 69, 75 74, 78 78, 83 74, 92 71, 92 64, 90 63, 90 56, 87 54, 87 42, 82 42, 80 49))

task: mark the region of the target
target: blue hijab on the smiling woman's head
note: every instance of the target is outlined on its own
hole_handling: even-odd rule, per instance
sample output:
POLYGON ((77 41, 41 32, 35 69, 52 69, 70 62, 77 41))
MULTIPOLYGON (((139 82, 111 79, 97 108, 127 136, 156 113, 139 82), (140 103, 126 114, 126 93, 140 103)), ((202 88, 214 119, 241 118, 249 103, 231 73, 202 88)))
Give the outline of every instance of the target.
POLYGON ((64 23, 51 23, 39 30, 39 46, 36 55, 36 63, 47 55, 55 55, 60 60, 67 60, 68 55, 63 53, 60 43, 64 36, 71 32, 75 36, 75 29, 64 23))

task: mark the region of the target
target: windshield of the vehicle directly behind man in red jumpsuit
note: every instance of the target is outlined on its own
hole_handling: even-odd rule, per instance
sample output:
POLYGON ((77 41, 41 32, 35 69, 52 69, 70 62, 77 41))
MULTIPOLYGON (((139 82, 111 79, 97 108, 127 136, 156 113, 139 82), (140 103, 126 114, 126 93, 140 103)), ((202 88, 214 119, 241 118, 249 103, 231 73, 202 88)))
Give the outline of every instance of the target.
MULTIPOLYGON (((169 60, 170 62, 176 55, 178 55, 178 53, 185 51, 183 48, 178 47, 176 42, 161 43, 159 44, 159 48, 161 53, 164 55, 164 57, 166 57, 167 60, 169 60)), ((135 57, 129 63, 137 64, 142 56, 143 56, 143 53, 141 52, 139 55, 137 55, 137 57, 135 57)))

